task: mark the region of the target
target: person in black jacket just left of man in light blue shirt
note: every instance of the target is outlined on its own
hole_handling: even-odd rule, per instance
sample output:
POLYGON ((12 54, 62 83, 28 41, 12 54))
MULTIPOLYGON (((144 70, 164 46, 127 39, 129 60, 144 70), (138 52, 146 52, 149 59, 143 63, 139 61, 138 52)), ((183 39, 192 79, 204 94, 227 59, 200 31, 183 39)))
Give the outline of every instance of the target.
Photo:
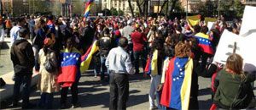
POLYGON ((100 50, 99 52, 101 57, 101 80, 104 80, 104 77, 105 77, 104 73, 106 71, 108 72, 108 76, 110 74, 106 68, 105 62, 106 62, 106 58, 108 57, 108 52, 113 47, 115 47, 115 41, 113 41, 113 39, 110 38, 108 35, 109 35, 109 30, 108 28, 105 28, 104 36, 96 42, 96 46, 99 47, 99 50, 100 50))

